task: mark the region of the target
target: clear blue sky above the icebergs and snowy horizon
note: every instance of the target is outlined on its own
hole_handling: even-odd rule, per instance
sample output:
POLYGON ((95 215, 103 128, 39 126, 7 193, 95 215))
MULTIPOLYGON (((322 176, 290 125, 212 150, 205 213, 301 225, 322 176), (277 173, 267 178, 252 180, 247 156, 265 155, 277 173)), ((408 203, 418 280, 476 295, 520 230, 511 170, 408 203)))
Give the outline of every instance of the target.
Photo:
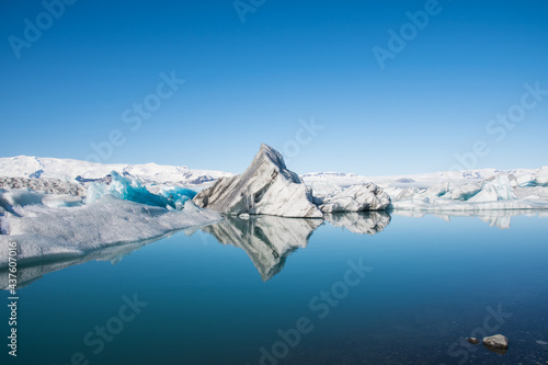
POLYGON ((489 124, 520 111, 524 84, 548 90, 548 2, 439 1, 381 69, 374 47, 430 1, 241 0, 244 22, 232 0, 79 0, 58 19, 4 1, 0 156, 241 172, 266 142, 299 173, 548 164, 548 94, 489 124), (161 85, 172 72, 176 90, 161 85))

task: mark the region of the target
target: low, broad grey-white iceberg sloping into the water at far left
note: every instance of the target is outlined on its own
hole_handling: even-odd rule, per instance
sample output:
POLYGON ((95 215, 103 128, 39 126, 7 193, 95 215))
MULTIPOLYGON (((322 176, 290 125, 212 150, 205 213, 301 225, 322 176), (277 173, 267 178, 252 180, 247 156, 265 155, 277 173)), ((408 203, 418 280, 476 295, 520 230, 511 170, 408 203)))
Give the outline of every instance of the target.
POLYGON ((9 242, 19 243, 20 262, 73 258, 222 219, 218 213, 198 208, 191 201, 179 212, 106 194, 93 204, 53 208, 41 203, 41 194, 23 192, 8 198, 5 195, 7 192, 0 194, 5 206, 0 216, 4 233, 0 236, 0 267, 8 264, 9 242))

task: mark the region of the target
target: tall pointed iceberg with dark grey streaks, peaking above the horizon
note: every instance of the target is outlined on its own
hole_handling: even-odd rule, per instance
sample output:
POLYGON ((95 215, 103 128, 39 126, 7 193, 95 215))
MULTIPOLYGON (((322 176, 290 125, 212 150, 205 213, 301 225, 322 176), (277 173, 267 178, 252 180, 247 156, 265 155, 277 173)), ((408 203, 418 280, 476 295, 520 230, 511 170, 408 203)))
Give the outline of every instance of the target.
POLYGON ((286 168, 282 155, 264 144, 246 172, 219 179, 199 192, 194 202, 229 215, 323 216, 300 178, 286 168))

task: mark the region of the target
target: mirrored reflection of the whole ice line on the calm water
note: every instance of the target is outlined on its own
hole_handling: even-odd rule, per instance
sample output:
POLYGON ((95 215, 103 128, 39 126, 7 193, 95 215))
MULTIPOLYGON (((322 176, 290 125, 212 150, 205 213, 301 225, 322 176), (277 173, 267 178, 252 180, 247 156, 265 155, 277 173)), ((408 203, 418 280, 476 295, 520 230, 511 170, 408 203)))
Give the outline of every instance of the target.
MULTIPOLYGON (((484 210, 484 212, 452 212, 450 214, 431 214, 411 210, 396 210, 392 215, 421 218, 434 215, 450 221, 453 217, 478 217, 491 227, 509 229, 512 217, 548 216, 548 212, 520 209, 520 210, 484 210)), ((313 231, 328 223, 334 227, 342 227, 357 235, 376 235, 381 232, 391 221, 387 212, 340 213, 329 214, 322 219, 283 218, 273 216, 251 216, 248 219, 229 216, 222 221, 205 227, 185 229, 187 236, 202 230, 215 237, 222 244, 241 248, 249 255, 263 281, 271 280, 279 273, 286 259, 299 248, 308 244, 313 231)), ((19 287, 23 287, 39 280, 43 275, 59 271, 72 265, 89 261, 110 261, 115 264, 134 250, 151 242, 161 240, 175 232, 147 241, 112 246, 93 251, 81 258, 39 261, 27 263, 18 267, 19 287)), ((8 271, 0 269, 0 289, 8 287, 8 271)))

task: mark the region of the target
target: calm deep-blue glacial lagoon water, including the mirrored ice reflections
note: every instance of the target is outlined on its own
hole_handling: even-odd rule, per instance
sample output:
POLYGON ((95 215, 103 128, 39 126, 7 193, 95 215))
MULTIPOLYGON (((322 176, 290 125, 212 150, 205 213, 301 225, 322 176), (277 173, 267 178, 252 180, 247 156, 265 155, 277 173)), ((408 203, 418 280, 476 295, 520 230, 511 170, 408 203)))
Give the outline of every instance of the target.
POLYGON ((2 364, 548 362, 539 212, 227 218, 19 269, 2 364), (498 333, 504 355, 465 341, 498 333))

